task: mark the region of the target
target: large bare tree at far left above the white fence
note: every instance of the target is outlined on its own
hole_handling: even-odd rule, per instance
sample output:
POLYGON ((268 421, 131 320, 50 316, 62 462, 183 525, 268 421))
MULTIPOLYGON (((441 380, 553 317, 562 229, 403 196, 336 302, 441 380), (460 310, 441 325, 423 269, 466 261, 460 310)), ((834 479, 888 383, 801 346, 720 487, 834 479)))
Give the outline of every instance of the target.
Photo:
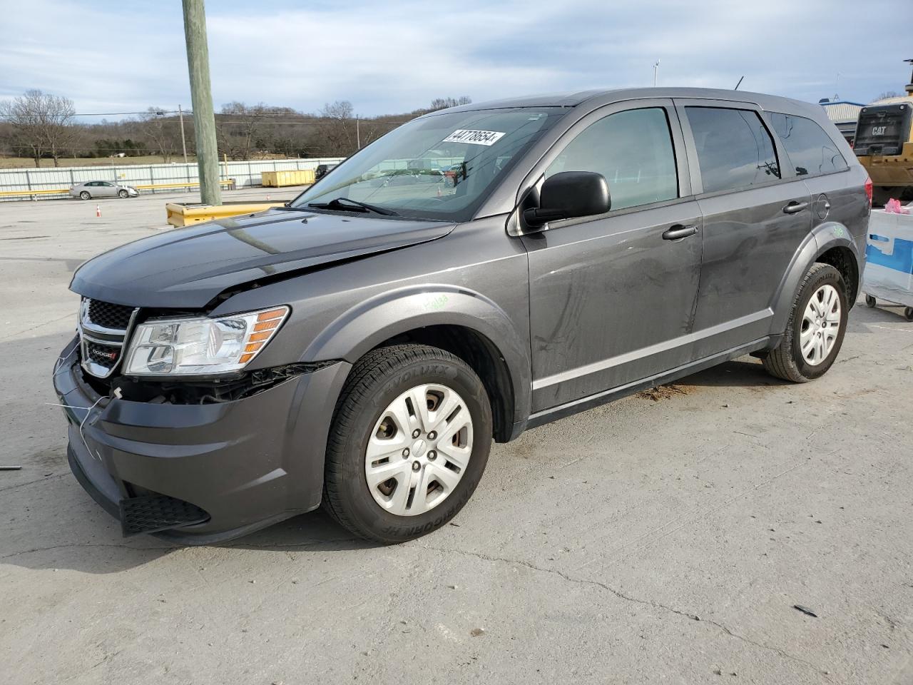
POLYGON ((75 113, 73 100, 40 90, 26 90, 18 98, 0 102, 0 115, 12 127, 16 146, 28 150, 36 166, 45 154, 54 158, 54 166, 59 165, 58 158, 76 134, 75 113))

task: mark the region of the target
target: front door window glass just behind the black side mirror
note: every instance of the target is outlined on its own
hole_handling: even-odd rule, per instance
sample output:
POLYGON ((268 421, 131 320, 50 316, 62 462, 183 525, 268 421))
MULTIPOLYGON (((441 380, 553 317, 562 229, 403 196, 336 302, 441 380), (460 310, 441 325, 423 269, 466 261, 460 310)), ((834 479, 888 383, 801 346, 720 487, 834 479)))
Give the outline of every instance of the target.
POLYGON ((666 111, 620 111, 596 121, 568 143, 545 174, 564 171, 603 174, 613 209, 677 197, 676 155, 666 111))

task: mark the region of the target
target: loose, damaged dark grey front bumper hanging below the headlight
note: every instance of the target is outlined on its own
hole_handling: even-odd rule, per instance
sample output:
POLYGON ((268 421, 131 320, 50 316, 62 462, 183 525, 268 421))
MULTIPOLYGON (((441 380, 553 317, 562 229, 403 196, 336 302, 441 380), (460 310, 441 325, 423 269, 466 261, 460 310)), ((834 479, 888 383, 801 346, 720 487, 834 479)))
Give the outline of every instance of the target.
POLYGON ((320 505, 327 434, 350 364, 243 399, 138 402, 89 385, 77 346, 69 343, 54 373, 70 468, 125 535, 217 543, 320 505))

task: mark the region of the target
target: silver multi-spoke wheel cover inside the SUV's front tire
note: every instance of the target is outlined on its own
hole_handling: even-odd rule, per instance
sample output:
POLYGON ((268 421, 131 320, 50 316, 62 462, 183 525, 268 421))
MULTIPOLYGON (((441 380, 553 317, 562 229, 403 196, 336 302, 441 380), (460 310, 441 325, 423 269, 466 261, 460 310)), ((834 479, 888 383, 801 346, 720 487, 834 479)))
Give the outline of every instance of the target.
POLYGON ((385 511, 417 516, 456 490, 471 455, 472 416, 463 398, 446 385, 416 385, 378 417, 364 475, 385 511))

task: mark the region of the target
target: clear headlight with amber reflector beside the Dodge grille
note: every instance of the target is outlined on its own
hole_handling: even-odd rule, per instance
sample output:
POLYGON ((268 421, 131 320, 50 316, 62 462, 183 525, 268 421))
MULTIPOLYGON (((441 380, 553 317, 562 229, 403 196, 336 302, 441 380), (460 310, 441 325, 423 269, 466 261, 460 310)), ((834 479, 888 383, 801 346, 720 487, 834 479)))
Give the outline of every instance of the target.
POLYGON ((221 374, 243 369, 289 315, 275 307, 218 319, 155 319, 136 327, 124 374, 221 374))

